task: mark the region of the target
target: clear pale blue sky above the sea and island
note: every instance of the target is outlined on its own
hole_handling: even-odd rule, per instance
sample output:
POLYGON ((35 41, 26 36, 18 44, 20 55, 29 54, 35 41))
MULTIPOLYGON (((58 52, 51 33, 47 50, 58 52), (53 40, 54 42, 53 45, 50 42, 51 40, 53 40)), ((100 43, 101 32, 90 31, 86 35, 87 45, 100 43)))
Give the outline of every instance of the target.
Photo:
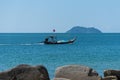
POLYGON ((120 33, 120 0, 0 0, 0 33, 63 33, 74 26, 120 33))

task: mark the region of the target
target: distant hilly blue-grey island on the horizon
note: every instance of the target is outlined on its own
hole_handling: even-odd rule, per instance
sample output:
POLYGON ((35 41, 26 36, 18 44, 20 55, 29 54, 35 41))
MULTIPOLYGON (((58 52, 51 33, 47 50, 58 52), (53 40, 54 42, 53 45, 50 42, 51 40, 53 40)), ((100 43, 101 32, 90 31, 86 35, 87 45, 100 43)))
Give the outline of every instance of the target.
POLYGON ((66 33, 102 33, 102 32, 94 27, 86 28, 81 26, 75 26, 68 30, 66 33))

